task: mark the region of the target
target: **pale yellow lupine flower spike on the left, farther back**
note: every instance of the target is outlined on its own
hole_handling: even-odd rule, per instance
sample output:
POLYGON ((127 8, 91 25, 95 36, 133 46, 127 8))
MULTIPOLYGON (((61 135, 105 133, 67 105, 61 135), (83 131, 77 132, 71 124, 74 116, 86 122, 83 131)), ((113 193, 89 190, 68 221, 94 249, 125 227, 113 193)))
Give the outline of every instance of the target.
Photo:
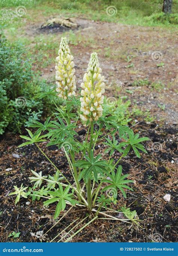
POLYGON ((67 99, 68 96, 75 95, 76 83, 75 83, 75 69, 74 57, 70 54, 70 49, 67 44, 66 37, 62 37, 60 41, 59 56, 56 58, 56 91, 59 92, 59 97, 67 99))

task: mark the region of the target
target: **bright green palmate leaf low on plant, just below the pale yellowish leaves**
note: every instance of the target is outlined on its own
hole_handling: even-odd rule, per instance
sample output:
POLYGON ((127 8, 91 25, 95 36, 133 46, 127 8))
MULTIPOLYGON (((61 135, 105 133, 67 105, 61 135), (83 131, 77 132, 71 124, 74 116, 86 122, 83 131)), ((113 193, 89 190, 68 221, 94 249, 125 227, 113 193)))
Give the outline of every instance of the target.
POLYGON ((48 191, 48 194, 50 194, 50 196, 52 198, 45 201, 44 205, 49 205, 49 204, 52 204, 56 201, 58 202, 57 206, 56 206, 56 211, 55 211, 55 214, 54 214, 54 219, 56 219, 59 216, 61 210, 62 211, 65 210, 66 201, 70 202, 72 205, 75 205, 77 203, 76 200, 71 198, 73 196, 73 192, 68 193, 69 189, 70 189, 70 185, 68 185, 65 188, 65 190, 63 191, 63 187, 59 183, 59 188, 57 190, 54 188, 54 191, 48 191))

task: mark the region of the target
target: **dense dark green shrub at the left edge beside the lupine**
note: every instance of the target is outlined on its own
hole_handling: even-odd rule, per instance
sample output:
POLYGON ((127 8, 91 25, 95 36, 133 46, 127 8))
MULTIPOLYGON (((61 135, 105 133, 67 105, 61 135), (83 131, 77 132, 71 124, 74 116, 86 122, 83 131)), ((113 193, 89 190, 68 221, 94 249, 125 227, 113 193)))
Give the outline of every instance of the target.
POLYGON ((0 134, 5 129, 20 132, 22 126, 38 120, 44 110, 44 103, 35 95, 44 91, 47 84, 34 74, 30 60, 24 58, 27 50, 9 43, 3 34, 0 36, 0 134))

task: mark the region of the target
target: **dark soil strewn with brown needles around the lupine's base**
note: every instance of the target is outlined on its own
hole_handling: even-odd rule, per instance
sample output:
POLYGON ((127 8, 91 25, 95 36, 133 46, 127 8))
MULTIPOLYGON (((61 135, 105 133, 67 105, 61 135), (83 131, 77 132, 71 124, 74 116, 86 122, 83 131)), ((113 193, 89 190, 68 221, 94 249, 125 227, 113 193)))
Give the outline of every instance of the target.
MULTIPOLYGON (((131 152, 129 156, 122 160, 123 173, 129 173, 130 179, 134 180, 134 185, 132 185, 134 191, 127 191, 126 200, 122 194, 118 194, 118 203, 113 205, 115 210, 119 210, 125 204, 131 210, 136 210, 139 219, 142 220, 139 223, 140 227, 136 225, 130 226, 130 224, 124 224, 121 221, 95 220, 94 223, 77 234, 71 242, 151 242, 156 241, 157 234, 163 242, 177 241, 176 211, 178 208, 178 198, 176 193, 176 163, 171 162, 177 157, 176 138, 173 133, 176 130, 173 126, 161 127, 158 125, 155 128, 152 128, 152 126, 153 123, 148 125, 142 122, 134 127, 134 130, 140 131, 142 136, 150 137, 151 140, 145 143, 148 155, 142 154, 142 158, 138 159, 131 152), (155 138, 161 138, 161 143, 164 145, 158 152, 154 152, 151 149, 155 138), (171 195, 170 202, 164 201, 163 196, 165 194, 171 195)), ((85 133, 85 128, 81 126, 78 131, 81 140, 84 139, 85 133)), ((13 190, 14 185, 20 187, 23 183, 24 186, 32 186, 28 179, 29 176, 32 176, 31 169, 37 172, 42 171, 43 175, 53 175, 55 173, 54 167, 38 151, 35 145, 17 149, 20 143, 22 143, 22 140, 18 135, 11 134, 9 136, 9 134, 6 134, 6 137, 2 139, 0 144, 2 150, 2 169, 0 175, 0 226, 2 227, 2 242, 39 241, 31 233, 43 230, 45 234, 55 223, 53 219, 55 205, 46 209, 42 206, 43 199, 32 202, 30 197, 28 199, 21 198, 20 203, 15 205, 15 196, 8 196, 10 191, 13 190), (15 158, 14 154, 18 154, 19 158, 15 158), (12 168, 12 170, 8 168, 12 168), (27 201, 30 201, 30 205, 26 205, 27 201), (8 238, 12 231, 21 232, 20 237, 15 240, 12 237, 8 238)), ((45 147, 45 144, 41 143, 40 147, 57 167, 62 170, 62 173, 72 181, 64 153, 55 146, 45 147)), ((104 155, 101 147, 96 149, 96 153, 104 155)), ((105 157, 108 156, 106 155, 105 157)), ((118 154, 115 154, 114 158, 118 159, 118 154)), ((68 209, 69 207, 67 207, 68 209)), ((82 210, 81 208, 74 207, 62 221, 47 233, 48 236, 44 237, 44 241, 51 241, 75 218, 79 217, 81 219, 86 216, 86 210, 82 210)), ((113 214, 113 216, 116 216, 116 214, 113 214)), ((82 227, 82 225, 80 224, 79 227, 82 227)), ((77 231, 77 229, 74 231, 77 231)), ((64 235, 65 233, 62 233, 54 241, 58 241, 64 235)))

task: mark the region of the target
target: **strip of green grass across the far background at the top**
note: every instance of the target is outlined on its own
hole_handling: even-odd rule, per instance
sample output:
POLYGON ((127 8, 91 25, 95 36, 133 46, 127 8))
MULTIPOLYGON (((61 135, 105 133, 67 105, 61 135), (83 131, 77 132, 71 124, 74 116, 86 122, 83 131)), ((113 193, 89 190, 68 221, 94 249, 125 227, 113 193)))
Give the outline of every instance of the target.
MULTIPOLYGON (((9 9, 6 8, 12 8, 12 7, 18 7, 18 6, 25 6, 26 8, 38 8, 41 12, 43 11, 44 15, 49 16, 49 12, 51 14, 56 14, 56 9, 58 12, 58 15, 62 14, 64 11, 66 11, 67 15, 75 15, 78 17, 80 14, 84 14, 86 18, 91 20, 103 20, 107 22, 120 22, 120 23, 127 23, 127 24, 133 24, 133 25, 174 25, 177 24, 177 9, 178 9, 178 1, 173 1, 172 4, 172 11, 173 14, 165 15, 161 12, 162 8, 159 8, 159 6, 163 3, 161 0, 151 0, 151 1, 131 1, 131 0, 105 0, 105 1, 98 1, 96 0, 80 0, 75 1, 75 4, 72 5, 72 8, 69 9, 69 6, 74 3, 73 0, 66 0, 66 1, 57 1, 54 0, 50 2, 48 0, 2 0, 0 2, 0 6, 2 7, 2 24, 4 25, 11 25, 12 21, 15 23, 19 23, 23 19, 19 19, 17 17, 14 17, 13 13, 9 13, 9 9), (108 6, 115 6, 116 12, 114 12, 113 15, 107 15, 106 14, 106 8, 108 6), (48 9, 46 11, 46 9, 48 9), (10 19, 10 14, 12 15, 12 20, 10 19)), ((26 15, 23 15, 21 18, 27 18, 32 19, 30 14, 28 12, 26 15)), ((49 37, 49 36, 48 36, 49 37)), ((74 37, 72 32, 69 33, 69 39, 70 43, 77 45, 79 42, 81 42, 81 35, 79 34, 78 37, 74 37)), ((48 46, 50 45, 50 49, 54 46, 50 44, 50 40, 48 40, 48 43, 45 45, 45 49, 49 49, 48 46)), ((38 47, 41 49, 44 48, 44 43, 42 42, 38 44, 38 47)), ((49 58, 47 59, 49 60, 49 58)))

